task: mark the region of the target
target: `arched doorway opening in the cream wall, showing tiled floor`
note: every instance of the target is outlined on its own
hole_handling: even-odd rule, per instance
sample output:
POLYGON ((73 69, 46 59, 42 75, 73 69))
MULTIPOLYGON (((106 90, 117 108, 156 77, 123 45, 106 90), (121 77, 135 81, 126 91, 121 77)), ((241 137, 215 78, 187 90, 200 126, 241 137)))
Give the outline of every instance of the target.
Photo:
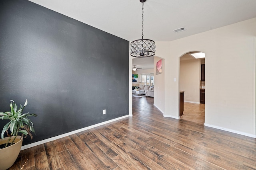
POLYGON ((204 68, 205 54, 200 51, 191 51, 180 57, 179 90, 184 91, 184 108, 180 119, 204 124, 206 82, 204 68))

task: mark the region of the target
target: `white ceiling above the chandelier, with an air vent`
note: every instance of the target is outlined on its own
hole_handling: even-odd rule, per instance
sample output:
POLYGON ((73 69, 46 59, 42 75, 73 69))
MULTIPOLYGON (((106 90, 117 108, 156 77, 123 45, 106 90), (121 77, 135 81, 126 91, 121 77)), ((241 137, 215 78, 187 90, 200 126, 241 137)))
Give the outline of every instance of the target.
MULTIPOLYGON (((30 1, 128 41, 141 39, 140 0, 30 1)), ((146 0, 144 38, 172 41, 255 17, 256 0, 146 0), (186 31, 174 33, 180 27, 186 31)))

